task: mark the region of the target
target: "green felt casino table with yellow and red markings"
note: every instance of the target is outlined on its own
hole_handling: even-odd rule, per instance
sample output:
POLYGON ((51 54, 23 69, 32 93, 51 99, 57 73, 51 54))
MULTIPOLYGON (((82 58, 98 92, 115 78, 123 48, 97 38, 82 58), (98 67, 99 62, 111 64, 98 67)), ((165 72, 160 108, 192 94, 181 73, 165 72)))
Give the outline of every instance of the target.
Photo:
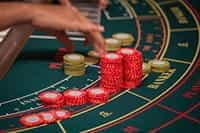
MULTIPOLYGON (((63 45, 53 36, 34 32, 15 64, 0 81, 0 132, 11 133, 135 133, 200 132, 200 23, 198 0, 110 0, 101 12, 105 37, 125 32, 134 36, 131 47, 145 62, 164 59, 171 68, 144 75, 142 84, 123 90, 103 104, 63 107, 72 117, 53 124, 25 128, 19 118, 47 110, 38 94, 98 86, 99 65, 88 65, 80 77, 49 68, 63 45)), ((91 45, 72 36, 75 51, 87 55, 91 45)))

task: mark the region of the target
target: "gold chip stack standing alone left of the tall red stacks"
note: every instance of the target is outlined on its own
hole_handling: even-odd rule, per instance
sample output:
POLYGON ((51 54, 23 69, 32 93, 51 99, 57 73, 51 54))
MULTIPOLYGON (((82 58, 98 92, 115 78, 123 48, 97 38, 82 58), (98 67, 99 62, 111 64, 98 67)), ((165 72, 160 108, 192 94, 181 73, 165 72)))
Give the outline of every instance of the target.
POLYGON ((85 74, 85 58, 80 54, 66 54, 64 59, 64 73, 66 75, 81 76, 85 74))

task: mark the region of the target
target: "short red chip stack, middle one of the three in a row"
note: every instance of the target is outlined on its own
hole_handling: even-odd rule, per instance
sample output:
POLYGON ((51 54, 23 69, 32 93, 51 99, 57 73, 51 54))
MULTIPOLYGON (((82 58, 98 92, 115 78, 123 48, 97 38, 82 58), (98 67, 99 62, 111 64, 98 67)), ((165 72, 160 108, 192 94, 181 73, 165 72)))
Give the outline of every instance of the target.
POLYGON ((86 92, 82 90, 67 90, 64 92, 65 104, 68 106, 83 105, 87 103, 86 92))

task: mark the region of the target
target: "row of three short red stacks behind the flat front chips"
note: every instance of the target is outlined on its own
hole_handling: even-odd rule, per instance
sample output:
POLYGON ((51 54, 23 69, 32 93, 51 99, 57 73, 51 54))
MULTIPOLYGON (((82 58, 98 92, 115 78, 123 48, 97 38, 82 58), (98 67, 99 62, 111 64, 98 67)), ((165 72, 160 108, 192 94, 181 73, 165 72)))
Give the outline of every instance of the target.
POLYGON ((63 93, 57 91, 45 91, 38 95, 44 106, 50 108, 62 108, 63 106, 80 106, 86 103, 105 103, 109 98, 108 90, 101 87, 87 90, 68 89, 63 93))

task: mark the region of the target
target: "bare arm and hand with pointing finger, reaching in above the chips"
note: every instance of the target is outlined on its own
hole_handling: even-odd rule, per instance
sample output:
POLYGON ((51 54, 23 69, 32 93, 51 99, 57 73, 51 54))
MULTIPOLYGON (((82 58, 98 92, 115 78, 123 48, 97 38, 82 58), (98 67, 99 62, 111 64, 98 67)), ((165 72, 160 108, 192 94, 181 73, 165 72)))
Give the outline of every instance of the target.
POLYGON ((0 3, 0 30, 16 24, 29 23, 52 30, 102 32, 102 26, 90 22, 65 5, 0 3))

